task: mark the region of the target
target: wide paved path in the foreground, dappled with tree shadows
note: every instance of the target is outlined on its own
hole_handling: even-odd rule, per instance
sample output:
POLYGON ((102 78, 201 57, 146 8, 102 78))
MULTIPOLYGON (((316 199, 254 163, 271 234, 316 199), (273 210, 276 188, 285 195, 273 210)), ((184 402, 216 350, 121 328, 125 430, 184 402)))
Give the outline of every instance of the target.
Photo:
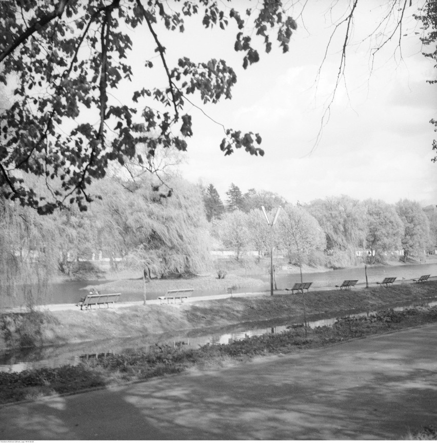
POLYGON ((402 439, 437 424, 437 325, 0 408, 0 440, 402 439))

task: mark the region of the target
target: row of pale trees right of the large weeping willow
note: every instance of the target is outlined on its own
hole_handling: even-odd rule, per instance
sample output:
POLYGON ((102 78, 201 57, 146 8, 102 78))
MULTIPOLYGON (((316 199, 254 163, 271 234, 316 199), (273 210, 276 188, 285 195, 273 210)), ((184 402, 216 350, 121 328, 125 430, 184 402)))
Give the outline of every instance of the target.
POLYGON ((261 206, 270 216, 282 206, 273 243, 287 252, 293 264, 347 267, 356 264, 356 251, 366 251, 370 263, 401 250, 404 261, 423 260, 437 245, 436 208, 422 208, 408 199, 389 205, 342 195, 292 205, 270 191, 249 189, 243 194, 232 183, 223 203, 212 184, 201 190, 213 236, 234 251, 237 259, 248 249, 260 254, 269 250, 269 227, 261 206))

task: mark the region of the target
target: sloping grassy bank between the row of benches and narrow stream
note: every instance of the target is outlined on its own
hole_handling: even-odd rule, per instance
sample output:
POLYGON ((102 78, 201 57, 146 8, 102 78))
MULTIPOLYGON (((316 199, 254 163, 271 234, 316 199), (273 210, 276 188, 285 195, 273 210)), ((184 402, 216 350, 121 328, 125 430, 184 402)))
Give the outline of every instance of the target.
MULTIPOLYGON (((389 288, 373 287, 353 291, 313 291, 305 293, 307 314, 326 317, 341 310, 377 310, 387 305, 437 299, 437 281, 404 284, 389 288)), ((303 316, 302 294, 278 292, 251 297, 190 301, 175 305, 146 305, 91 311, 53 311, 51 313, 0 315, 0 349, 34 345, 56 345, 175 333, 191 329, 222 328, 248 321, 303 316), (22 331, 30 331, 23 335, 22 331), (36 331, 34 333, 32 331, 36 331)))

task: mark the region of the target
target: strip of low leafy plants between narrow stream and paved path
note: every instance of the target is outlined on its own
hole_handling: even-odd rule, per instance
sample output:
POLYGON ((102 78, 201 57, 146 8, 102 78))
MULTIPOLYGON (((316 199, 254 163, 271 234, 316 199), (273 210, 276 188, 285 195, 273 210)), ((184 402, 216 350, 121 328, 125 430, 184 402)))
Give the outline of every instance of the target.
POLYGON ((437 321, 437 307, 416 307, 401 312, 380 311, 368 317, 342 318, 332 327, 290 328, 278 334, 264 334, 228 345, 207 345, 198 349, 155 346, 148 350, 126 350, 116 355, 87 360, 78 366, 0 372, 0 403, 32 400, 52 394, 66 394, 144 381, 156 376, 182 372, 196 366, 221 367, 254 356, 286 354, 320 348, 344 340, 420 327, 437 321))

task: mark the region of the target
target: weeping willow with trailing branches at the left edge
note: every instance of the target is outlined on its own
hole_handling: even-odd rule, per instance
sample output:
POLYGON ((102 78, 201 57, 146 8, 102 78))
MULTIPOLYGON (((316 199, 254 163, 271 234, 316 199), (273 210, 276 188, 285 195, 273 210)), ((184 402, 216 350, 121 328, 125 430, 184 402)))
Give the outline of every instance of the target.
POLYGON ((50 218, 0 198, 0 233, 0 304, 32 310, 57 268, 56 229, 50 218))

